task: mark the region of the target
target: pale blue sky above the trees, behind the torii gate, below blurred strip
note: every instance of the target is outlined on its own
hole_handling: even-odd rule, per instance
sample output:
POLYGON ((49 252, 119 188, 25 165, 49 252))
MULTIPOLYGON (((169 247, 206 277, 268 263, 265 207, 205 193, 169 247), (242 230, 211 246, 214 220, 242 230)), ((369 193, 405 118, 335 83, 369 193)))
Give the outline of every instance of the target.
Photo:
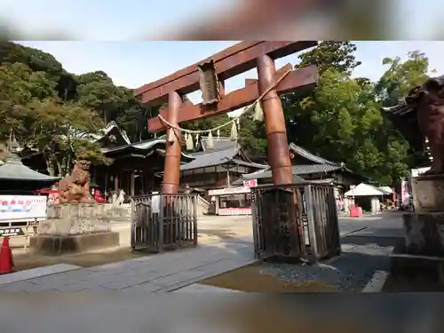
MULTIPOLYGON (((115 84, 137 88, 194 64, 237 42, 20 42, 50 52, 67 71, 82 74, 103 70, 115 84)), ((409 51, 420 50, 430 58, 431 67, 444 74, 444 42, 355 42, 355 56, 362 65, 353 75, 377 80, 384 71, 385 57, 405 59, 409 51)), ((297 54, 277 59, 276 67, 297 63, 297 54)), ((226 82, 226 91, 243 86, 245 78, 257 78, 255 70, 226 82)), ((197 101, 199 93, 191 97, 197 101)))

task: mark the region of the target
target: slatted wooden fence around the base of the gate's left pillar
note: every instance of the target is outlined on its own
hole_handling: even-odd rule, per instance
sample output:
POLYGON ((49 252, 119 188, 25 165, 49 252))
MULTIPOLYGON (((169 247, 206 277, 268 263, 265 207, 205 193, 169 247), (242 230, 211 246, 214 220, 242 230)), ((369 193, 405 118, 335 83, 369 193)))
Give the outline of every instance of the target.
POLYGON ((146 194, 131 202, 131 248, 197 246, 197 194, 146 194))

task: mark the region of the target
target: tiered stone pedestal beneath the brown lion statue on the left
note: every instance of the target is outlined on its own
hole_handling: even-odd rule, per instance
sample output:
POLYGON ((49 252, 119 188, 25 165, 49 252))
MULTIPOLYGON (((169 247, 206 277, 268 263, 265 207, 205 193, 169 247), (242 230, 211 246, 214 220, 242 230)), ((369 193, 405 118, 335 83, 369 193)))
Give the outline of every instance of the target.
MULTIPOLYGON (((122 212, 96 203, 49 206, 48 219, 39 222, 38 234, 29 248, 42 254, 83 252, 119 246, 119 234, 111 231, 111 221, 122 212)), ((128 217, 129 218, 129 217, 128 217)))

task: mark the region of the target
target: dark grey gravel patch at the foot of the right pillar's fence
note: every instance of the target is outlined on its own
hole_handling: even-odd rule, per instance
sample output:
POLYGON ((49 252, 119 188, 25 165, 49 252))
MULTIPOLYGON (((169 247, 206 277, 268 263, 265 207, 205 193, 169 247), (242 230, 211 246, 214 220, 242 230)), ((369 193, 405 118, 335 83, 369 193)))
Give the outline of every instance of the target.
POLYGON ((378 270, 390 269, 392 247, 377 244, 346 245, 340 257, 315 265, 267 263, 261 274, 296 283, 321 282, 341 291, 361 291, 378 270))

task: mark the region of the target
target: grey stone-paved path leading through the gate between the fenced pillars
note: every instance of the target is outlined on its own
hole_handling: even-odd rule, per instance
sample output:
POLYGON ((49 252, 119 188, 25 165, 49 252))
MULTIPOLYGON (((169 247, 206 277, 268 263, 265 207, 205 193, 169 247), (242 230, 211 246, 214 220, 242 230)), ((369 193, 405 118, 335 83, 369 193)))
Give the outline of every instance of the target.
POLYGON ((0 285, 0 293, 111 291, 155 293, 183 288, 254 262, 251 242, 218 242, 197 248, 79 268, 0 285))

